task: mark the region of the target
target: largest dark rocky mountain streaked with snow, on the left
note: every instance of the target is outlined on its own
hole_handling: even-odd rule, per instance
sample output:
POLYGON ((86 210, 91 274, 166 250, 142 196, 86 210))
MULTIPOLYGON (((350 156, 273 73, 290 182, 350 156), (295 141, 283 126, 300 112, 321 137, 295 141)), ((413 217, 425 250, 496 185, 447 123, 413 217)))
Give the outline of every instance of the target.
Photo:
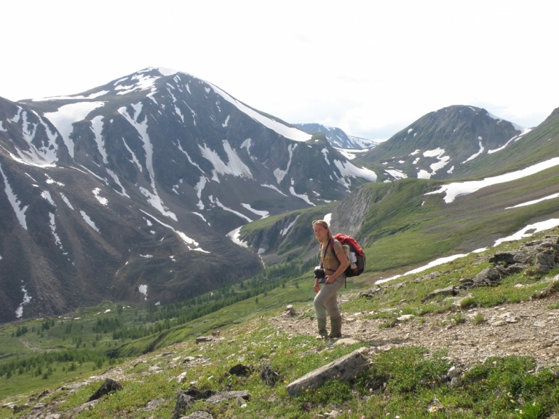
POLYGON ((243 224, 374 182, 326 140, 187 73, 0 98, 0 321, 168 302, 262 269, 243 224))

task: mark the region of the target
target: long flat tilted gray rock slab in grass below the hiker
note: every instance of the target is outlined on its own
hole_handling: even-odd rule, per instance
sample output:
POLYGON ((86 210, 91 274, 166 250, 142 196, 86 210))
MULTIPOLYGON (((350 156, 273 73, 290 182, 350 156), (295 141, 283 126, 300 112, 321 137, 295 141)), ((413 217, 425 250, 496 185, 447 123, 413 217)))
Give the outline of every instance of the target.
POLYGON ((330 362, 319 369, 305 374, 287 385, 287 392, 291 397, 300 395, 303 390, 316 389, 331 380, 353 380, 369 365, 369 359, 363 355, 366 348, 360 348, 347 355, 330 362))

